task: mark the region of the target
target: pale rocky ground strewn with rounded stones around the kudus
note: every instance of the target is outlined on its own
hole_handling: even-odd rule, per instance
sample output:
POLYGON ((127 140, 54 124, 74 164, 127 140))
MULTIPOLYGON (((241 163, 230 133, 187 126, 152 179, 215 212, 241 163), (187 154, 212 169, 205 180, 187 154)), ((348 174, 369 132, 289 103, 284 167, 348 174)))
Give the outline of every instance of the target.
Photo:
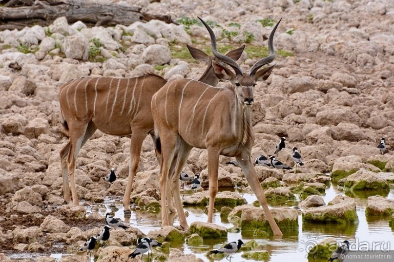
MULTIPOLYGON (((103 217, 91 215, 81 222, 83 208, 60 208, 64 203, 59 151, 67 137, 62 130, 59 87, 79 76, 134 77, 147 69, 166 79, 198 78, 205 65, 187 56, 186 44, 208 52, 209 38, 197 16, 212 21, 219 50, 246 44, 238 61, 245 71, 266 54, 272 25, 282 18, 274 38, 277 65, 270 78, 255 89, 252 156, 272 154, 280 137, 285 136, 287 147, 277 159, 292 167, 291 148, 296 146, 305 165, 297 173, 256 167, 261 181, 267 177, 282 181, 275 187, 285 189, 270 189, 273 200, 289 200, 291 194, 300 194, 306 201, 302 204, 303 220, 318 221, 322 212, 331 212, 317 197, 321 185, 316 184, 326 184, 327 177, 322 176, 326 172, 332 172, 332 180, 345 190, 379 189, 384 197, 392 188, 393 1, 113 2, 169 14, 180 25, 152 20, 89 28, 82 22, 68 24, 59 18, 48 27, 0 32, 1 252, 50 252, 50 243, 67 243, 72 238, 81 244, 89 234, 100 231, 103 217), (376 148, 382 137, 387 146, 384 155, 376 148), (306 184, 300 187, 300 182, 306 184), (293 184, 296 186, 291 188, 293 184), (306 206, 311 206, 308 211, 306 206), (52 228, 51 223, 56 226, 52 228)), ((96 131, 83 147, 76 180, 79 197, 86 205, 103 202, 107 195, 123 195, 129 143, 129 137, 96 131), (101 179, 110 168, 115 168, 119 177, 111 186, 101 179)), ((229 160, 220 159, 219 185, 247 187, 240 169, 224 164, 229 160)), ((153 144, 146 138, 139 166, 143 172, 137 175, 133 193, 140 194, 133 196, 136 205, 157 203, 157 168, 153 144)), ((192 150, 185 171, 190 175, 201 172, 206 186, 206 151, 192 150)), ((390 216, 393 202, 382 203, 379 197, 369 200, 368 212, 390 216)), ((354 220, 353 204, 351 199, 337 203, 343 206, 341 219, 345 223, 354 220)), ((126 245, 135 243, 142 233, 130 229, 114 235, 114 244, 126 237, 126 245)), ((108 248, 103 249, 105 254, 119 251, 108 248)), ((128 247, 120 250, 122 254, 130 251, 128 247)), ((0 258, 7 261, 1 254, 0 258)), ((176 258, 174 255, 173 261, 176 258)), ((67 259, 73 261, 72 257, 67 259)))

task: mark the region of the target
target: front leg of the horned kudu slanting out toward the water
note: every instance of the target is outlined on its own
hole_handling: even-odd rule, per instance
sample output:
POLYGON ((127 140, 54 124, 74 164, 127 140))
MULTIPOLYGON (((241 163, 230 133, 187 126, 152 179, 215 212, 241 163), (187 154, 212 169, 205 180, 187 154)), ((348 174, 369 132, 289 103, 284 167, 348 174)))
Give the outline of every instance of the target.
POLYGON ((254 169, 253 164, 250 160, 250 156, 236 157, 236 159, 239 165, 241 166, 242 171, 244 172, 250 187, 252 188, 254 194, 256 195, 257 200, 260 202, 260 205, 263 207, 264 213, 267 217, 268 222, 270 223, 273 234, 275 236, 282 236, 282 232, 280 231, 278 225, 276 224, 271 214, 270 208, 268 207, 266 195, 264 194, 263 188, 261 188, 260 186, 260 182, 257 177, 256 170, 254 169))

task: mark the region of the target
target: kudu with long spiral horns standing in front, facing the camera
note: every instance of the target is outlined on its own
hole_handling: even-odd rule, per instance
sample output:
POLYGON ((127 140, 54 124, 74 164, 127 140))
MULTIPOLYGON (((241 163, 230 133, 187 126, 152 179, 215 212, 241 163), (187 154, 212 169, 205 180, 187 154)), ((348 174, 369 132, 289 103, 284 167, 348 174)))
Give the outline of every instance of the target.
POLYGON ((212 223, 213 206, 218 190, 219 155, 235 157, 250 187, 264 209, 274 235, 282 235, 273 219, 263 189, 254 170, 250 152, 254 133, 250 122, 250 106, 253 104, 253 87, 259 79, 266 80, 274 65, 260 69, 275 58, 273 36, 279 22, 273 28, 268 46, 270 55, 257 61, 244 75, 236 61, 220 54, 216 49, 216 38, 207 28, 212 52, 228 68, 212 61, 215 74, 220 79, 230 80, 225 88, 212 87, 192 79, 176 79, 166 83, 152 97, 152 114, 157 137, 156 147, 161 150, 160 192, 162 225, 168 225, 165 192, 169 179, 180 225, 187 229, 178 187, 178 176, 193 147, 207 149, 209 178, 208 223, 212 223), (160 139, 160 140, 159 140, 160 139), (160 143, 159 143, 160 142, 160 143), (160 145, 160 147, 159 147, 160 145), (174 169, 174 170, 172 170, 174 169), (169 175, 171 175, 169 177, 169 175))

